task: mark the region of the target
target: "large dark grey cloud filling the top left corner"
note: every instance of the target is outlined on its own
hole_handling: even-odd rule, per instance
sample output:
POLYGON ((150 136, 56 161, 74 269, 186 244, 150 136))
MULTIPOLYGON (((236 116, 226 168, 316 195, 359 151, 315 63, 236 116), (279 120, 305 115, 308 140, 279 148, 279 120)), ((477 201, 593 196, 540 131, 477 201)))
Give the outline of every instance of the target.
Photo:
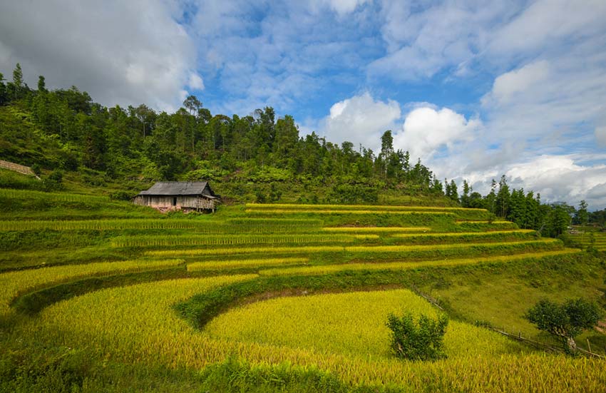
POLYGON ((0 12, 0 70, 26 82, 72 85, 105 105, 172 109, 193 77, 195 46, 165 1, 8 1, 0 12))

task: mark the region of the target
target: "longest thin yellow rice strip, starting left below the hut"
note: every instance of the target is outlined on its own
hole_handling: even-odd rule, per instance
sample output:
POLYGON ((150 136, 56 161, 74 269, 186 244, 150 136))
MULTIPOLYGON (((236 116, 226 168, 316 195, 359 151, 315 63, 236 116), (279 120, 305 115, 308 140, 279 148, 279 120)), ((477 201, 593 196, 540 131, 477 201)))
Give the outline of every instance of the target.
POLYGON ((145 252, 145 255, 154 257, 166 256, 196 256, 196 255, 233 255, 233 254, 255 254, 267 252, 299 254, 310 252, 414 252, 432 250, 474 250, 480 248, 499 249, 515 246, 560 246, 562 242, 557 239, 543 239, 532 241, 514 241, 500 243, 466 243, 466 244, 438 244, 438 245, 316 245, 301 247, 230 247, 230 248, 204 248, 197 250, 157 250, 145 252))

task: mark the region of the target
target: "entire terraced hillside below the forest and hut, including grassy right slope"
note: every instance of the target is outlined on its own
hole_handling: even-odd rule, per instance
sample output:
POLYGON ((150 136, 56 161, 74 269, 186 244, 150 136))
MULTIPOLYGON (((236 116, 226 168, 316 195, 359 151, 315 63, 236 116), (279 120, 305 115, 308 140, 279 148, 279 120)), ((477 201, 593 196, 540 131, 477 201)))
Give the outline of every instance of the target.
MULTIPOLYGON (((495 331, 558 346, 523 315, 544 297, 603 302, 603 254, 483 209, 249 203, 165 216, 99 195, 5 189, 0 198, 2 391, 596 392, 606 383, 602 359, 545 354, 495 331), (448 314, 447 359, 390 354, 386 317, 406 310, 448 314)), ((605 355, 605 335, 577 341, 587 340, 605 355)))

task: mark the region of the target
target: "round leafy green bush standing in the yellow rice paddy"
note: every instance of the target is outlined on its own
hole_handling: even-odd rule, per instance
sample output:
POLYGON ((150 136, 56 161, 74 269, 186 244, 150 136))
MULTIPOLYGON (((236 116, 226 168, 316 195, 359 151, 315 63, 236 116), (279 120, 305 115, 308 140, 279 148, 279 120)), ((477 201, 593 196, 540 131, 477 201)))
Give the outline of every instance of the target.
POLYGON ((390 314, 387 327, 391 329, 391 351, 401 359, 444 359, 444 334, 447 326, 446 315, 440 315, 437 320, 421 315, 415 321, 409 312, 402 317, 390 314))

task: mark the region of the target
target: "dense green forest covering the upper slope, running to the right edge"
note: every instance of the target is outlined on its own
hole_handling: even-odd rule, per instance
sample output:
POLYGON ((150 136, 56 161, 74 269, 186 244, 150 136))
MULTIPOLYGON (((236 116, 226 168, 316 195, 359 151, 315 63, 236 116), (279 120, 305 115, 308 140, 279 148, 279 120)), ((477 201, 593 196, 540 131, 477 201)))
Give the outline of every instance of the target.
MULTIPOLYGON (((19 64, 12 80, 0 74, 0 159, 29 165, 46 181, 11 183, 6 188, 61 187, 65 173, 85 184, 119 183, 114 198, 128 200, 155 180, 212 180, 225 200, 302 203, 379 203, 379 195, 442 198, 447 205, 486 208, 495 219, 547 236, 565 234, 570 223, 605 224, 605 211, 587 212, 566 203, 542 203, 540 195, 510 189, 503 175, 481 195, 463 181, 440 180, 408 151, 395 150, 391 131, 381 150, 317 133, 300 136, 294 118, 274 109, 247 116, 212 114, 196 96, 175 113, 141 104, 107 108, 76 86, 48 90, 24 82, 19 64), (288 195, 289 192, 297 195, 288 195)), ((384 202, 384 200, 381 200, 384 202)))

